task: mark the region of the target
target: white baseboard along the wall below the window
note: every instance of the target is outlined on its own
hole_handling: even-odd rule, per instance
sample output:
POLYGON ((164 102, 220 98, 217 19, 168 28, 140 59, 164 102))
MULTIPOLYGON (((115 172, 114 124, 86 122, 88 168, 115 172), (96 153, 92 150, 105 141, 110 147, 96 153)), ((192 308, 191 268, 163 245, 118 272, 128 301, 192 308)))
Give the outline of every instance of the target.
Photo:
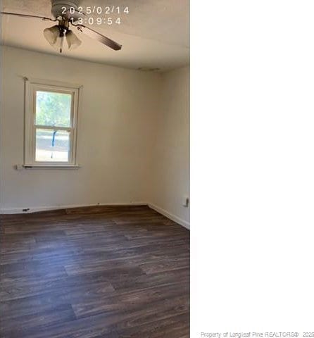
POLYGON ((72 204, 69 206, 33 206, 27 208, 1 208, 0 214, 8 215, 14 213, 38 213, 39 211, 50 211, 58 209, 84 208, 84 206, 147 206, 146 202, 123 202, 123 203, 101 203, 101 204, 72 204), (27 211, 23 211, 26 210, 27 211))

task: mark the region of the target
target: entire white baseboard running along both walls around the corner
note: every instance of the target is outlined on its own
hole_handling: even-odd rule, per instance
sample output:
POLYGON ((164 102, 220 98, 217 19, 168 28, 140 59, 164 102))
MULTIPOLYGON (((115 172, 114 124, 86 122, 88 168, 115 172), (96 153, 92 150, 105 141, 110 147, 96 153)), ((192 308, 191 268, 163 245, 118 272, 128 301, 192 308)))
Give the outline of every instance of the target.
POLYGON ((186 220, 182 220, 182 218, 177 217, 176 215, 172 215, 168 211, 165 211, 163 208, 156 206, 155 204, 147 203, 147 202, 123 202, 123 203, 103 203, 103 204, 72 204, 70 206, 34 206, 29 208, 1 208, 0 214, 9 215, 14 213, 38 213, 39 211, 50 211, 50 210, 58 210, 58 209, 70 209, 70 208, 83 208, 84 206, 149 206, 153 210, 161 213, 170 220, 175 221, 176 223, 182 225, 189 229, 189 222, 186 220), (26 211, 23 211, 26 210, 26 211))

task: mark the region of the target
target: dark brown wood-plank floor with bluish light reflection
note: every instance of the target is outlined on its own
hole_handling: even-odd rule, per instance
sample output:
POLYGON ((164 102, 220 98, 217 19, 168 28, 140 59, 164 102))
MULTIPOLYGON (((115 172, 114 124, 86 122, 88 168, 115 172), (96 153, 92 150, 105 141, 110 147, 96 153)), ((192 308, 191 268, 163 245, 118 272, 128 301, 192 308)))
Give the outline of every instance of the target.
POLYGON ((1 338, 189 337, 189 231, 147 206, 1 215, 1 338))

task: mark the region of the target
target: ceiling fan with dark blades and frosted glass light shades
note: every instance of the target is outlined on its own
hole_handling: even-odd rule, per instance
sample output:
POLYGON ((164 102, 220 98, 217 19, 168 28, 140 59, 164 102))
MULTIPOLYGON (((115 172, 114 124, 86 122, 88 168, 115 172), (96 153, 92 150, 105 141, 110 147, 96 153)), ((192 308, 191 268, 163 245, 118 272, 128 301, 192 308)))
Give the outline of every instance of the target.
MULTIPOLYGON (((38 18, 44 21, 54 21, 58 22, 57 25, 52 27, 48 27, 44 29, 44 37, 46 40, 53 46, 58 49, 60 53, 63 51, 63 42, 66 40, 68 44, 68 49, 75 49, 82 42, 78 37, 70 30, 70 25, 75 27, 80 32, 85 35, 92 37, 92 39, 96 39, 97 41, 105 44, 111 49, 118 51, 121 49, 121 45, 117 42, 105 37, 104 35, 96 32, 96 30, 92 30, 92 28, 81 25, 77 23, 77 21, 84 16, 84 13, 78 10, 80 0, 51 0, 51 14, 54 16, 54 19, 46 18, 38 15, 28 15, 28 14, 20 14, 20 13, 9 13, 9 12, 0 12, 4 15, 15 15, 23 18, 38 18)), ((82 20, 81 20, 82 21, 82 20)))

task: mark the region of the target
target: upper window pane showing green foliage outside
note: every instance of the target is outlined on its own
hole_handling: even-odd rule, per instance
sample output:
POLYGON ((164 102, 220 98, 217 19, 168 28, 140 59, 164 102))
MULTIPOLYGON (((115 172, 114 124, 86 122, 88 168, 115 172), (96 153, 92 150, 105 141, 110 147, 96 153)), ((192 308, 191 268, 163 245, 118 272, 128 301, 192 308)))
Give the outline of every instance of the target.
POLYGON ((72 95, 36 92, 36 124, 70 127, 72 95))

